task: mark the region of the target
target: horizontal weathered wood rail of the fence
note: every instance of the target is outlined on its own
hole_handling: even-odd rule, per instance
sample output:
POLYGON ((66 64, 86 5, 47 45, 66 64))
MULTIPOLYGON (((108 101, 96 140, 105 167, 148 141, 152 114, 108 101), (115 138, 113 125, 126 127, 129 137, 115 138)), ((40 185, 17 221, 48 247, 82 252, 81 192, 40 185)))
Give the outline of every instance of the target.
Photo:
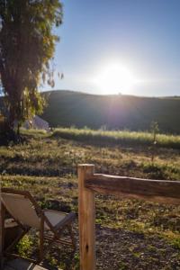
POLYGON ((97 193, 115 194, 125 198, 180 203, 180 181, 94 174, 85 178, 85 187, 97 193))

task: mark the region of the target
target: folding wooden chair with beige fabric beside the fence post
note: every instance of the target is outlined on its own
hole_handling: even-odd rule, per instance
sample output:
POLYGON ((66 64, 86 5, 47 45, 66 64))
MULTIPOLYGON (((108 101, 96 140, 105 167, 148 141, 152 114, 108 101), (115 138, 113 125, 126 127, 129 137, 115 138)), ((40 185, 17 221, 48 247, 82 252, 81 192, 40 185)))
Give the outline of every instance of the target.
MULTIPOLYGON (((72 230, 72 222, 76 217, 74 212, 41 210, 38 203, 31 196, 31 193, 10 188, 2 188, 1 200, 5 210, 11 214, 22 229, 22 232, 15 238, 14 242, 4 250, 4 255, 19 257, 10 253, 10 250, 30 229, 38 229, 40 231, 40 254, 39 259, 36 260, 38 263, 40 263, 49 247, 55 242, 76 248, 72 230), (68 230, 71 241, 61 239, 61 233, 64 229, 68 230), (44 248, 45 240, 49 242, 46 250, 44 248)), ((34 260, 31 261, 34 262, 34 260)))

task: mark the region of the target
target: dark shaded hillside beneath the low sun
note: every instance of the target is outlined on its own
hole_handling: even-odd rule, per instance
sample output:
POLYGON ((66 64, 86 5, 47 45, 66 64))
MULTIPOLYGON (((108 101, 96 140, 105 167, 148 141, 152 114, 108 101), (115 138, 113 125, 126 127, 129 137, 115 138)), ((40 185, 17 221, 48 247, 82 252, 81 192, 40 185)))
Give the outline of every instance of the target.
POLYGON ((180 99, 132 95, 94 95, 72 91, 51 91, 42 115, 52 127, 149 130, 157 121, 166 133, 180 134, 180 99))

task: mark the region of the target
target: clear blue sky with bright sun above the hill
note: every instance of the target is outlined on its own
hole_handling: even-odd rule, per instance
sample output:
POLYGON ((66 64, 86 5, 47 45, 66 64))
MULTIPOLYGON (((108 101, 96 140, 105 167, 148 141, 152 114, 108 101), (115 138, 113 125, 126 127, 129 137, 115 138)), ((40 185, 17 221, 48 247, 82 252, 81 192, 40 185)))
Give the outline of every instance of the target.
MULTIPOLYGON (((64 0, 55 89, 180 95, 179 0, 64 0)), ((49 90, 44 85, 44 90, 49 90)))

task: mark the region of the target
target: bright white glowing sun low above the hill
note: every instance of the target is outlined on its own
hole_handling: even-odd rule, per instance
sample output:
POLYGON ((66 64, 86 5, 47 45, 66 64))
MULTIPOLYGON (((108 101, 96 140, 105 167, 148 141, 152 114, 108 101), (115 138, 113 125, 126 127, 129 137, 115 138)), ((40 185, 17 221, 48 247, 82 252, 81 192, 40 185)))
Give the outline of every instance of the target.
POLYGON ((94 81, 101 94, 129 94, 138 80, 127 67, 114 63, 103 67, 94 81))

